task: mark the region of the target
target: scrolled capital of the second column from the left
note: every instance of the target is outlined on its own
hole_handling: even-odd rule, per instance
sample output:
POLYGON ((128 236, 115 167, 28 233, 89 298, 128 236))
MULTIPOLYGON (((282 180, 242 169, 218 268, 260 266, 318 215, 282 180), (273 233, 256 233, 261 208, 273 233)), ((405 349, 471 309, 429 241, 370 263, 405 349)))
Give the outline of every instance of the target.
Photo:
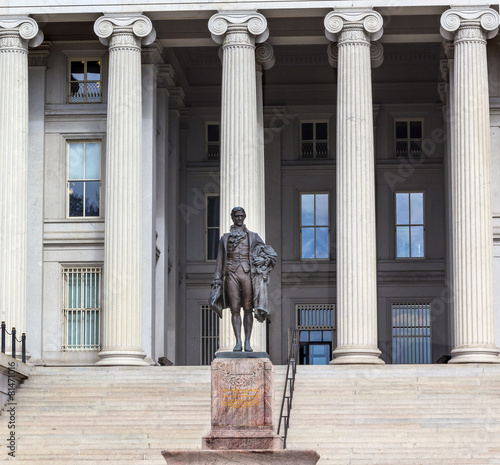
POLYGON ((151 20, 142 14, 107 14, 94 23, 94 32, 103 45, 108 46, 110 37, 117 30, 129 29, 141 39, 142 45, 149 45, 156 39, 156 31, 151 20))

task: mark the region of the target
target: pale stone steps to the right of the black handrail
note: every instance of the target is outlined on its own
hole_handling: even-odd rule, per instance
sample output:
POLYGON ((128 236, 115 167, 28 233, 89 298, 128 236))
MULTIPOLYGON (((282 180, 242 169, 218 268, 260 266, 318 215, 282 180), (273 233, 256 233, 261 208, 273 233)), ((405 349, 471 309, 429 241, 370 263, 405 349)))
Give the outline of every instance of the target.
POLYGON ((287 447, 319 465, 500 464, 500 366, 299 366, 287 447))

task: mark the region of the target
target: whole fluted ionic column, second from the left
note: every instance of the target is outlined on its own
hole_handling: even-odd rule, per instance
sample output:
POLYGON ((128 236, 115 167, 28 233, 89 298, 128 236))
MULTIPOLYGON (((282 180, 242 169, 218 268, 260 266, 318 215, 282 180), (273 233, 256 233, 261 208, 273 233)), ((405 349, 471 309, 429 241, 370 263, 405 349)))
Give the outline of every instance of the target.
POLYGON ((94 24, 109 45, 103 344, 98 365, 147 365, 142 350, 141 43, 155 39, 142 15, 94 24))

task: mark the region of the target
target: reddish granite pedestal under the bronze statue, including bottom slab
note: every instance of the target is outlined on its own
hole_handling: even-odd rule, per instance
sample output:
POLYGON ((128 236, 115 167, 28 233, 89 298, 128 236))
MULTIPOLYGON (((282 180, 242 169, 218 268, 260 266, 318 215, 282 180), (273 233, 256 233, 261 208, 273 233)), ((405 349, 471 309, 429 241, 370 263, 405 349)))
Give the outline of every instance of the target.
POLYGON ((312 450, 283 450, 274 418, 274 367, 268 358, 212 362, 212 424, 202 449, 163 451, 167 464, 314 465, 312 450))

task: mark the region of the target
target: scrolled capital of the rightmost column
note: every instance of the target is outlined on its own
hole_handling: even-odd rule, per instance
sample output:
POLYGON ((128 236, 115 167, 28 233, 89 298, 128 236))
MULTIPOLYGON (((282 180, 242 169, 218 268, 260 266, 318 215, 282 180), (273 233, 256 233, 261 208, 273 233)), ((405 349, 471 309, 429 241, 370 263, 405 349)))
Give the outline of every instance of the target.
MULTIPOLYGON (((489 7, 451 7, 441 16, 441 35, 447 40, 457 39, 460 29, 480 28, 485 39, 491 39, 498 33, 500 16, 489 7)), ((481 39, 475 34, 468 35, 470 40, 481 39)))

